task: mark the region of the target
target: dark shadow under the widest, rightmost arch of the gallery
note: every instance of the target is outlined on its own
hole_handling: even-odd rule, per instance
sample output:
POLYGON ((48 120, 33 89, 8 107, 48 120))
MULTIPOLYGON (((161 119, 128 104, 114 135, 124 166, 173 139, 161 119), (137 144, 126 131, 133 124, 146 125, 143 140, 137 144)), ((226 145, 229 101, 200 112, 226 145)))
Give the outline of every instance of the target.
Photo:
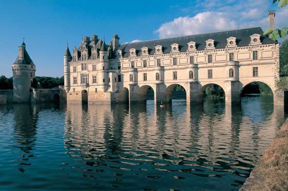
POLYGON ((254 81, 245 84, 240 90, 240 96, 245 94, 270 94, 273 95, 272 88, 265 82, 254 81))

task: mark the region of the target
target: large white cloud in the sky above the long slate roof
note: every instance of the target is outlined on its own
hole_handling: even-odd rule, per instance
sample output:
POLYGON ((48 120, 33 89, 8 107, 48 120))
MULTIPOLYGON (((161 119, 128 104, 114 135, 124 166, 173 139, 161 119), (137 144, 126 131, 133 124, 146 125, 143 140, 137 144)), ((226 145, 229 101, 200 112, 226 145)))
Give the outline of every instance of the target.
POLYGON ((201 10, 193 16, 180 16, 173 21, 161 24, 154 32, 160 38, 174 37, 223 30, 233 30, 246 27, 268 27, 267 12, 276 10, 276 28, 287 26, 288 6, 278 8, 270 0, 197 0, 196 5, 178 5, 179 10, 190 12, 201 10))

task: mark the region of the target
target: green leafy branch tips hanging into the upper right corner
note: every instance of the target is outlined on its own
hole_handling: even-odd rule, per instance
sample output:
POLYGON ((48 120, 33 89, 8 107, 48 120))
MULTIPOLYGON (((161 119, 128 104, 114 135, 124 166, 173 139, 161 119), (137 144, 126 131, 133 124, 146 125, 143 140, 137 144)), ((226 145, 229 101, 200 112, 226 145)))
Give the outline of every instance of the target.
MULTIPOLYGON (((273 3, 278 2, 278 6, 279 7, 285 7, 286 5, 288 5, 288 0, 272 0, 273 3)), ((286 35, 288 34, 288 27, 284 27, 282 29, 267 29, 264 32, 264 35, 270 35, 274 41, 276 41, 279 38, 285 39, 286 35)))

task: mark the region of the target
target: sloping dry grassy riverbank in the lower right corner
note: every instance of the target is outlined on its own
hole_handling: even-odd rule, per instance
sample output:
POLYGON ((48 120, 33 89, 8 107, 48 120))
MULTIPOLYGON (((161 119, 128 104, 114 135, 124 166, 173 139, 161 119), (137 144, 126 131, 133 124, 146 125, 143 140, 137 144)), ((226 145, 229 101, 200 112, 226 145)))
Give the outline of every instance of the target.
POLYGON ((288 120, 240 190, 288 190, 288 120))

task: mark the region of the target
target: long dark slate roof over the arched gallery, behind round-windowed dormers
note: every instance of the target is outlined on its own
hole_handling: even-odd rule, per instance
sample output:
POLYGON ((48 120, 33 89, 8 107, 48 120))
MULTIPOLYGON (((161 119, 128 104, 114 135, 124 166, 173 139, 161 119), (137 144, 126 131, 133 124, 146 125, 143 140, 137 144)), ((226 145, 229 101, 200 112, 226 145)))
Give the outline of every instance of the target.
POLYGON ((213 32, 213 33, 205 33, 205 34, 195 34, 181 37, 172 37, 169 39, 158 39, 158 40, 150 40, 150 41, 141 41, 135 43, 125 43, 122 44, 118 49, 122 51, 122 55, 124 58, 129 57, 129 50, 131 48, 136 49, 136 54, 138 56, 141 55, 141 48, 148 47, 149 54, 153 55, 155 53, 155 46, 161 45, 163 47, 163 53, 171 52, 171 45, 173 43, 177 43, 179 45, 180 52, 186 52, 188 45, 187 43, 193 41, 196 43, 197 50, 205 50, 206 42, 208 39, 214 40, 216 49, 223 49, 227 45, 227 39, 230 36, 236 37, 236 42, 238 47, 249 46, 250 43, 250 35, 260 34, 260 39, 262 44, 276 44, 273 40, 269 39, 269 37, 263 35, 263 30, 260 27, 255 28, 246 28, 246 29, 238 29, 238 30, 230 30, 223 32, 213 32))

